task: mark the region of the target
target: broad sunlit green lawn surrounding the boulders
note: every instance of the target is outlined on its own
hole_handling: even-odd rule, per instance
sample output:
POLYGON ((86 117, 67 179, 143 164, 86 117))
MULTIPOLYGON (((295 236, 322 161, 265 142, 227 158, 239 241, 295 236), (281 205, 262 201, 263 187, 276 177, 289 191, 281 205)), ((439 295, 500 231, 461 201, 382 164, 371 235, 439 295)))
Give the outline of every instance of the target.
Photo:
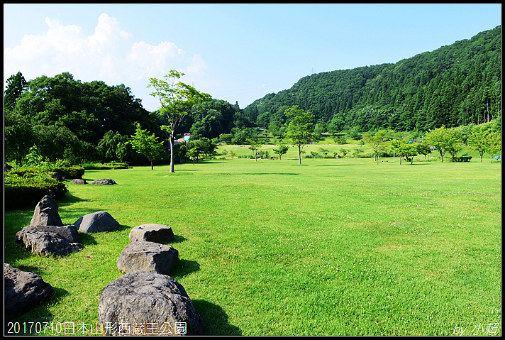
POLYGON ((55 290, 9 321, 97 322, 130 230, 155 223, 176 235, 172 276, 209 335, 486 335, 496 323, 501 334, 501 162, 235 158, 175 171, 69 184, 64 224, 105 210, 122 229, 80 234, 85 248, 65 258, 14 243, 33 208, 5 212, 5 262, 55 290))

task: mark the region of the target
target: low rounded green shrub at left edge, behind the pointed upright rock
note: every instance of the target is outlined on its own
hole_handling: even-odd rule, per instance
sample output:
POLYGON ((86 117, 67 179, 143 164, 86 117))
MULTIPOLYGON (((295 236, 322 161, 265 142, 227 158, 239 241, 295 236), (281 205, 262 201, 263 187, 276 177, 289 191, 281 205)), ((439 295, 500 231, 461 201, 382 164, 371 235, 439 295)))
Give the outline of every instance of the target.
POLYGON ((58 182, 47 171, 38 168, 18 168, 4 172, 6 209, 18 209, 37 204, 46 194, 55 199, 65 197, 65 182, 58 182))

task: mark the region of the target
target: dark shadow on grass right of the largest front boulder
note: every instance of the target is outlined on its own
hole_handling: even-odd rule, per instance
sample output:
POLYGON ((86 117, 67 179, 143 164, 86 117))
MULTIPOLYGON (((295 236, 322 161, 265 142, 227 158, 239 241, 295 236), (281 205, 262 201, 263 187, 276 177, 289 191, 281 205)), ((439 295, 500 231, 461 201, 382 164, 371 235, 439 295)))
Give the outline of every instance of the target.
POLYGON ((205 300, 193 300, 205 322, 205 335, 242 335, 242 330, 228 323, 228 315, 218 305, 205 300))

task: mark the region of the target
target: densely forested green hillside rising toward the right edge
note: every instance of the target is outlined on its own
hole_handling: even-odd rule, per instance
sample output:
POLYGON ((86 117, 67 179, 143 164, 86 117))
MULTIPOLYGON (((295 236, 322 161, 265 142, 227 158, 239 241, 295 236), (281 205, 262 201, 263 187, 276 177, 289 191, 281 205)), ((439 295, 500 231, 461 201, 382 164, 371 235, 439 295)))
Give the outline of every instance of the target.
POLYGON ((501 26, 395 64, 323 72, 291 89, 267 94, 245 116, 267 127, 285 122, 293 105, 310 111, 328 131, 428 131, 481 124, 500 116, 501 26))

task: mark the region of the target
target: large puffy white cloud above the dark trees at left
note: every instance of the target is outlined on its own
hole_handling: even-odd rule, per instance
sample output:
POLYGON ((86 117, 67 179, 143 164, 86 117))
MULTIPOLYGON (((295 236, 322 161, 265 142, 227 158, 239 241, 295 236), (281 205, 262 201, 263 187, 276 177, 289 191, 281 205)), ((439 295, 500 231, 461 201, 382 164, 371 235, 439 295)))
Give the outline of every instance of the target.
MULTIPOLYGON (((84 82, 103 80, 111 85, 126 84, 132 90, 145 89, 150 77, 162 77, 170 70, 199 77, 207 68, 201 55, 186 57, 186 52, 174 43, 133 41, 132 33, 106 13, 99 16, 89 36, 77 25, 65 26, 52 18, 46 18, 45 23, 48 31, 25 35, 19 45, 4 48, 4 85, 18 71, 27 80, 70 72, 84 82)), ((133 94, 146 99, 148 90, 133 94)))

